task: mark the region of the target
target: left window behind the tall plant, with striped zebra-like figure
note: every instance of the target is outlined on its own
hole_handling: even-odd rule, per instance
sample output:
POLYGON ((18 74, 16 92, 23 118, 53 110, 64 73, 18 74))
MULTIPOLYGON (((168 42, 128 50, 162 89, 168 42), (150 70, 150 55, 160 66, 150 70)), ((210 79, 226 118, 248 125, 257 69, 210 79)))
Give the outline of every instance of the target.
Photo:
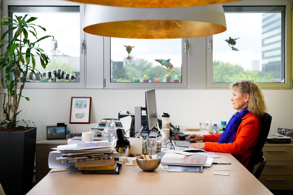
MULTIPOLYGON (((84 52, 81 50, 80 41, 84 37, 80 25, 82 23, 83 5, 61 2, 60 5, 56 3, 57 5, 48 6, 43 5, 46 3, 45 1, 40 2, 40 5, 30 5, 29 2, 27 2, 28 5, 17 3, 11 2, 6 6, 10 17, 13 15, 8 10, 13 11, 17 16, 28 14, 28 18, 37 17, 38 19, 34 23, 46 28, 45 32, 40 28, 35 28, 38 38, 45 35, 54 36, 54 39, 50 37, 39 42, 39 47, 45 51, 50 59, 46 68, 43 68, 39 60, 36 60, 36 69, 42 73, 43 78, 37 79, 35 76, 27 78, 26 87, 84 87, 84 52), (54 73, 63 75, 63 78, 50 76, 54 73)), ((11 37, 13 34, 10 33, 9 36, 11 37)), ((35 40, 33 36, 29 39, 35 40)), ((35 55, 35 57, 39 58, 38 55, 35 55)))

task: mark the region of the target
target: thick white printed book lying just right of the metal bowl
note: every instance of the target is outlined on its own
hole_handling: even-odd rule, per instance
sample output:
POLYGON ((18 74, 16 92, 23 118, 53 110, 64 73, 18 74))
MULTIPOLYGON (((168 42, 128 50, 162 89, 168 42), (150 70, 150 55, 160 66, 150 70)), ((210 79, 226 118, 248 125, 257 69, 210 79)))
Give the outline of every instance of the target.
POLYGON ((161 159, 161 163, 165 165, 203 166, 206 160, 207 155, 183 155, 176 153, 165 153, 161 159))

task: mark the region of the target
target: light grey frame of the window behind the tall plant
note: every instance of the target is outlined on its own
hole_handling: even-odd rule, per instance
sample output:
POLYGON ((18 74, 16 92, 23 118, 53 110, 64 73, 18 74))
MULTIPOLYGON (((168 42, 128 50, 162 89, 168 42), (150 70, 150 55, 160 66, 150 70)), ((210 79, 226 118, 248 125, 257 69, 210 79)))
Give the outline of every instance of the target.
MULTIPOLYGON (((85 11, 85 6, 83 3, 76 3, 71 1, 50 1, 50 0, 40 0, 40 1, 22 1, 22 0, 4 0, 2 17, 8 15, 8 6, 79 6, 80 14, 80 58, 79 58, 79 82, 26 82, 25 88, 85 88, 85 49, 83 47, 85 33, 82 30, 83 16, 85 11), (81 47, 83 49, 81 50, 81 47)), ((46 27, 46 26, 44 26, 46 27)), ((8 27, 2 27, 2 32, 5 32, 8 27)), ((2 48, 3 52, 3 48, 2 48)), ((1 77, 4 78, 4 71, 1 72, 1 77)))

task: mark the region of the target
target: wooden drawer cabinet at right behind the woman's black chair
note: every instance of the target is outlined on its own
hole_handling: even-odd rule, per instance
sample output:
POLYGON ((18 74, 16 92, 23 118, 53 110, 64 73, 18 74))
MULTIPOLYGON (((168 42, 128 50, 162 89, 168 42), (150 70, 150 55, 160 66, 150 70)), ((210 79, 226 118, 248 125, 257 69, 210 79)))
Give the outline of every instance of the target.
POLYGON ((266 166, 259 178, 270 190, 293 190, 293 143, 265 144, 266 166))

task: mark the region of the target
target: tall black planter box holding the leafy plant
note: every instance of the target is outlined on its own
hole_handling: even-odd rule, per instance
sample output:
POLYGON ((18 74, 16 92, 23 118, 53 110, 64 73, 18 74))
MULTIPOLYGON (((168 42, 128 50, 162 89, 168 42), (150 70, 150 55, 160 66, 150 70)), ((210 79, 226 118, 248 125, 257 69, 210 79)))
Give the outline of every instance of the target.
POLYGON ((0 132, 0 184, 6 195, 24 195, 32 188, 37 128, 0 132))

